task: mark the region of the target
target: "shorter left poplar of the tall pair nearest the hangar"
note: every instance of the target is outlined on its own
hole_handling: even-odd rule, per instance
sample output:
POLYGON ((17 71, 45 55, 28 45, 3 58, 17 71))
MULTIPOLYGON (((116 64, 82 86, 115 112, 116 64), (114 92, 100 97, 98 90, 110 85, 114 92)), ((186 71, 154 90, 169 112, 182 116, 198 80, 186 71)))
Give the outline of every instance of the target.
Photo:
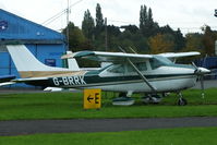
POLYGON ((95 23, 94 19, 91 15, 89 10, 87 9, 84 12, 84 20, 82 22, 82 32, 88 39, 94 39, 94 28, 95 28, 95 23))

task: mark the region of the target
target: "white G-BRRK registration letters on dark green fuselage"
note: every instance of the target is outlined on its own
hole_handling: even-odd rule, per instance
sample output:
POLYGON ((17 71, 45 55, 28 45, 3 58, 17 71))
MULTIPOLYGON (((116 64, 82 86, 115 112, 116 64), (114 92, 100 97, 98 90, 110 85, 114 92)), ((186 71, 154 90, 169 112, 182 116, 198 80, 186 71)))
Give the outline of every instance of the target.
POLYGON ((62 76, 62 77, 53 77, 52 82, 56 86, 61 85, 85 85, 86 82, 84 81, 84 76, 62 76))

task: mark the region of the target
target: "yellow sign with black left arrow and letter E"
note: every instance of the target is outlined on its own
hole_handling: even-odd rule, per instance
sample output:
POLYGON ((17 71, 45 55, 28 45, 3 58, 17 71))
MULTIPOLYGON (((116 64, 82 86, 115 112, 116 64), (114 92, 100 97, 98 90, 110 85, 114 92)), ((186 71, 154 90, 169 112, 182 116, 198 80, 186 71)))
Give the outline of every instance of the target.
POLYGON ((84 109, 100 109, 101 89, 84 89, 84 109))

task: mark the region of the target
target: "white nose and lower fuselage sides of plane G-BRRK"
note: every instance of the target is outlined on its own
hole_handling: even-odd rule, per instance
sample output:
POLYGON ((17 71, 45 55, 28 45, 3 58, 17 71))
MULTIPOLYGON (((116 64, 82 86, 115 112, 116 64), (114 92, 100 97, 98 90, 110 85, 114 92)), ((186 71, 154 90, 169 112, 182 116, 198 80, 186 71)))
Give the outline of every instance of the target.
MULTIPOLYGON (((191 68, 160 67, 156 70, 148 70, 143 73, 147 77, 148 82, 157 89, 158 93, 176 92, 193 87, 196 84, 197 78, 197 76, 194 75, 194 69, 191 68)), ((136 75, 137 74, 135 72, 114 74, 108 72, 107 70, 103 71, 99 74, 100 77, 116 76, 117 78, 136 75)), ((101 82, 98 83, 97 86, 92 85, 88 88, 101 88, 103 90, 112 92, 152 92, 149 86, 142 78, 126 78, 125 81, 117 81, 113 83, 101 82)))

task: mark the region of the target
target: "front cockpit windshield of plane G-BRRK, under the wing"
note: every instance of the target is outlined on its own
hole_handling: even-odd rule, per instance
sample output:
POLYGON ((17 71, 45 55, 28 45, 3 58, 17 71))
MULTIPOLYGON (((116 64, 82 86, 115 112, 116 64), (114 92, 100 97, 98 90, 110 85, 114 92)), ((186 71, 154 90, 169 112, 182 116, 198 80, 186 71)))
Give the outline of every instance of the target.
POLYGON ((169 65, 172 64, 169 59, 161 57, 161 56, 155 56, 153 59, 149 60, 152 69, 157 69, 161 65, 169 65))

